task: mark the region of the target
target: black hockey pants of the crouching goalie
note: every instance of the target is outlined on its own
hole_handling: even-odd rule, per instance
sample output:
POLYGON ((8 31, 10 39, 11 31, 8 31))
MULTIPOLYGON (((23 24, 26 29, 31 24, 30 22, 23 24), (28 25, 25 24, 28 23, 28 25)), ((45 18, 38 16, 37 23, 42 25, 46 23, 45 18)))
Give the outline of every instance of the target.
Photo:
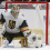
POLYGON ((7 40, 9 41, 9 43, 11 43, 13 38, 23 37, 23 33, 22 32, 19 32, 19 33, 8 33, 8 32, 4 32, 3 37, 6 37, 7 40))

